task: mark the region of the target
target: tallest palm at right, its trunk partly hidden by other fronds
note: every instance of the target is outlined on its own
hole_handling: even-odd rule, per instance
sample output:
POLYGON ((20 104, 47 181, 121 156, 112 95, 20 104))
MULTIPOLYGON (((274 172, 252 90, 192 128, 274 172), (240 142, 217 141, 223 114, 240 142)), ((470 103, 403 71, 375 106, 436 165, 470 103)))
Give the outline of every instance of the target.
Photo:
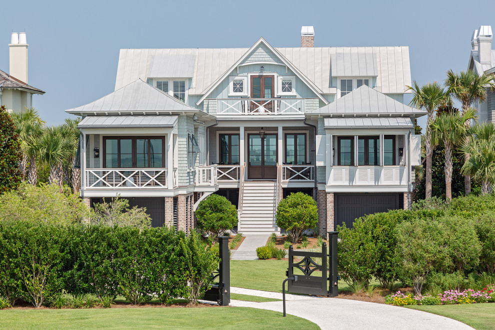
MULTIPOLYGON (((458 99, 462 104, 462 112, 466 112, 475 101, 484 102, 487 95, 487 87, 493 88, 493 73, 483 73, 478 75, 472 70, 460 71, 460 73, 447 71, 445 86, 448 93, 458 99)), ((470 126, 470 122, 466 122, 470 126)), ((469 159, 469 153, 464 155, 464 163, 469 159)), ((464 194, 471 192, 471 179, 469 174, 464 175, 464 194)))

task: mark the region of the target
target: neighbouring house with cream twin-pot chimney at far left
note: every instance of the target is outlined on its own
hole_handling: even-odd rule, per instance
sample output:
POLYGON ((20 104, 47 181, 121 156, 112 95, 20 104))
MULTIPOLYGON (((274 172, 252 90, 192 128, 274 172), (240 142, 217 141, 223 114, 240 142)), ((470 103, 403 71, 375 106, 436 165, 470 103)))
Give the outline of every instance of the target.
POLYGON ((12 32, 9 47, 9 73, 0 70, 0 105, 8 111, 32 107, 32 94, 44 94, 27 84, 27 42, 25 32, 12 32))

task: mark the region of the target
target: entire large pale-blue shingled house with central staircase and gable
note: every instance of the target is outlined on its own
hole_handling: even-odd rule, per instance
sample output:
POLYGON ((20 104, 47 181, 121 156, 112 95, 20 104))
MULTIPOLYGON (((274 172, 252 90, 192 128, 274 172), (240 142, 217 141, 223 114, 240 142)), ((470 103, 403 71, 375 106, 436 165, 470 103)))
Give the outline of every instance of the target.
POLYGON ((82 116, 81 196, 119 194, 155 226, 188 230, 210 193, 239 210, 241 232, 278 231, 277 202, 303 191, 323 234, 365 213, 408 208, 420 138, 402 103, 409 50, 121 49, 115 91, 82 116))

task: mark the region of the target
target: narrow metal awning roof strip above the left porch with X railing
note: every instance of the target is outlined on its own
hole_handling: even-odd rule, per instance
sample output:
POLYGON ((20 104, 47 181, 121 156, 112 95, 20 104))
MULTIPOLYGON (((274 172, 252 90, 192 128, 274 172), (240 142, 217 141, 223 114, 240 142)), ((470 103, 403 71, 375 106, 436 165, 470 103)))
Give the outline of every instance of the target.
POLYGON ((176 115, 88 115, 79 122, 77 128, 166 128, 173 127, 176 122, 176 115))

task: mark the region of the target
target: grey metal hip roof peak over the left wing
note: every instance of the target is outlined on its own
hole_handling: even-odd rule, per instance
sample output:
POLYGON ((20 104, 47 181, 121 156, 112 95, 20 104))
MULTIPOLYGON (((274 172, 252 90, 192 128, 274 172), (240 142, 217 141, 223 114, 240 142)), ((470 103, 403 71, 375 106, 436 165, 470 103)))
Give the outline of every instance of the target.
POLYGON ((65 110, 65 112, 72 114, 156 111, 197 112, 198 109, 190 107, 162 90, 137 79, 91 103, 65 110))

